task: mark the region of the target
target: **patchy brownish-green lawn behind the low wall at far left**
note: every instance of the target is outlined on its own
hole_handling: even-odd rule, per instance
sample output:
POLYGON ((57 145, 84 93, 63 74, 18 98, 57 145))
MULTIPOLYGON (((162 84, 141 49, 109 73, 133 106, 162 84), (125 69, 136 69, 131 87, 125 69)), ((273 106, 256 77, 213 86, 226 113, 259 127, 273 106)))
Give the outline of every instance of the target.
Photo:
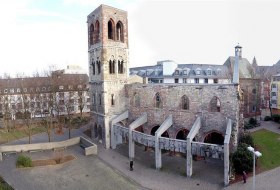
MULTIPOLYGON (((34 127, 31 130, 32 130, 32 135, 46 131, 46 129, 44 127, 34 127)), ((2 130, 2 131, 0 131, 0 144, 6 143, 9 141, 13 141, 16 139, 28 137, 27 132, 28 132, 27 130, 16 130, 16 129, 14 129, 10 132, 6 132, 6 131, 2 130)))

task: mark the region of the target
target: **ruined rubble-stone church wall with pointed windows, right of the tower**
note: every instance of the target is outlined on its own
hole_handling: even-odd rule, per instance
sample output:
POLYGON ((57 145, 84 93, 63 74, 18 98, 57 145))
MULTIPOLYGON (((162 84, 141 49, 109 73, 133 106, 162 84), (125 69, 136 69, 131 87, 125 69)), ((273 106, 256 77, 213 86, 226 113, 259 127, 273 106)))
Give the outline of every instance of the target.
POLYGON ((176 138, 180 129, 190 130, 196 117, 201 116, 202 127, 197 136, 203 141, 207 133, 218 131, 224 135, 227 118, 236 123, 239 118, 239 100, 237 87, 228 85, 195 85, 195 84, 130 84, 126 85, 126 96, 129 101, 129 120, 132 122, 143 112, 148 114, 148 122, 143 126, 144 132, 161 125, 169 114, 173 116, 173 126, 168 129, 169 137, 176 138), (160 93, 162 108, 155 107, 155 94, 160 93), (135 95, 140 97, 140 106, 134 102, 135 95), (189 110, 181 107, 181 97, 189 98, 189 110), (220 102, 220 112, 210 111, 210 101, 216 96, 220 102))

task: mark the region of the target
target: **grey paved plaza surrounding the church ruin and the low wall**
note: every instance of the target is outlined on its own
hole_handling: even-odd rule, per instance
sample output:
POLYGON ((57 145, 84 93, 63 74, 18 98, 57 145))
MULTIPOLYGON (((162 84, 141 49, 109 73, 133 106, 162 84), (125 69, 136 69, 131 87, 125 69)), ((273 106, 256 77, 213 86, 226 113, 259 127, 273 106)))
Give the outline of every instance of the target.
MULTIPOLYGON (((263 122, 261 128, 278 130, 278 124, 263 122)), ((84 136, 85 126, 73 130, 72 135, 84 136)), ((277 131, 279 132, 279 130, 277 131)), ((46 142, 46 134, 38 134, 33 142, 46 142)), ((54 135, 55 141, 68 139, 68 133, 54 135)), ((27 143, 21 139, 10 144, 27 143)), ((158 171, 154 166, 154 151, 145 151, 143 146, 135 147, 134 170, 129 170, 128 145, 122 144, 116 150, 98 146, 98 156, 84 156, 79 146, 66 149, 65 155, 72 154, 75 160, 56 166, 31 169, 16 169, 16 155, 5 156, 0 163, 0 173, 14 188, 32 189, 190 189, 190 190, 243 190, 252 188, 252 178, 246 184, 237 182, 229 187, 223 186, 223 162, 213 159, 194 161, 193 177, 185 174, 186 159, 183 155, 170 156, 163 153, 163 168, 158 171)), ((31 153, 34 159, 54 156, 52 151, 31 153)), ((257 175, 256 189, 279 190, 280 167, 257 175)))

